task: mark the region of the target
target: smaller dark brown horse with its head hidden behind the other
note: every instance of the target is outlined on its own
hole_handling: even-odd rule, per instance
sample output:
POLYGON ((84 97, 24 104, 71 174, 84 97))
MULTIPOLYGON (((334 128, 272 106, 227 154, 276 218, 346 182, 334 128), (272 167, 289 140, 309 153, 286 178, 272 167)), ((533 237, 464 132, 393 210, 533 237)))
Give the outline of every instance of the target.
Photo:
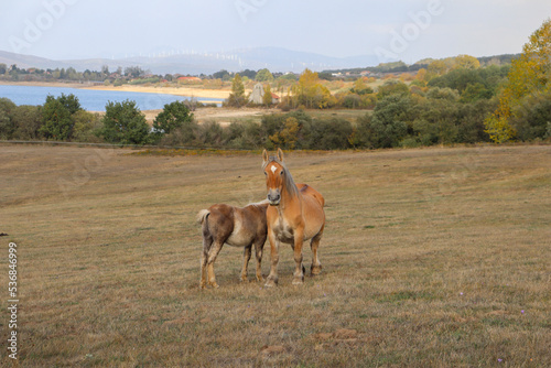
POLYGON ((267 237, 266 210, 268 201, 250 204, 242 208, 229 205, 213 205, 197 214, 203 227, 203 255, 201 257, 201 289, 207 284, 218 288, 214 275, 214 261, 224 243, 245 247, 241 281, 247 281, 252 245, 257 257, 257 280, 262 281, 262 249, 267 237))

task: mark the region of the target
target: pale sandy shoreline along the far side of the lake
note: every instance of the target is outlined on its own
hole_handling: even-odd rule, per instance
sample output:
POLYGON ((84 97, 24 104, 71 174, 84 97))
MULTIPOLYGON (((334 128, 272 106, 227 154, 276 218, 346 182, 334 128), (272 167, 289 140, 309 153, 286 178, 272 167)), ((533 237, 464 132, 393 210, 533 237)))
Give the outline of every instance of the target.
POLYGON ((28 86, 28 87, 65 87, 65 88, 77 88, 77 89, 90 89, 90 90, 114 90, 114 91, 128 91, 128 93, 141 93, 141 94, 163 94, 173 95, 181 97, 193 97, 199 102, 206 104, 222 104, 226 98, 228 98, 230 90, 225 89, 202 89, 193 87, 161 87, 161 86, 131 86, 122 85, 119 87, 114 86, 102 86, 95 85, 91 83, 63 83, 63 82, 9 82, 0 80, 0 85, 4 86, 28 86), (215 98, 217 100, 205 101, 201 98, 215 98))

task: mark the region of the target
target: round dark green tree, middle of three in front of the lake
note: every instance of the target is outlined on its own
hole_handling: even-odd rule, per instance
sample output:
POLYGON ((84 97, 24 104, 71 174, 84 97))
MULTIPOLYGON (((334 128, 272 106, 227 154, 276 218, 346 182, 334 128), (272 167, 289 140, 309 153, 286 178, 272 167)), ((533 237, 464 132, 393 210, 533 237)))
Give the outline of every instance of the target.
POLYGON ((136 101, 109 101, 99 134, 110 143, 148 143, 149 126, 145 116, 136 106, 136 101))

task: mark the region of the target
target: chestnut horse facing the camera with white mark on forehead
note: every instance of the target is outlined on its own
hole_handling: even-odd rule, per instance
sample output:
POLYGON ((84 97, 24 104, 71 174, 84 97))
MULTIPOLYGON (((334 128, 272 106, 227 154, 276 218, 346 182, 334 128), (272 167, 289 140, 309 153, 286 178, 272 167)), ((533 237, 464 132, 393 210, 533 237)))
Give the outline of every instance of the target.
POLYGON ((323 196, 306 184, 294 184, 291 173, 283 163, 283 151, 278 149, 277 156, 262 153, 270 207, 266 213, 268 221, 268 238, 270 239, 271 268, 266 286, 278 284, 279 246, 290 243, 294 251, 296 268, 293 273, 293 284, 304 282, 304 266, 302 264, 303 241, 312 239, 312 275, 322 272, 322 263, 317 259, 317 247, 325 227, 323 196))

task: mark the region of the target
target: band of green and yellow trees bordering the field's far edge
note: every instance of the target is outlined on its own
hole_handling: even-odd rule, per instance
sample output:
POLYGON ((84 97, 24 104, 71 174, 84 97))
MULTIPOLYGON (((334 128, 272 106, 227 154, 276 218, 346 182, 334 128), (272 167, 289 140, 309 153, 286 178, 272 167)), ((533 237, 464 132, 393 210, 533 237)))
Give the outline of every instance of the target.
MULTIPOLYGON (((551 139, 551 20, 545 21, 511 65, 482 67, 460 55, 432 61, 409 80, 377 87, 364 78, 331 94, 317 73, 305 69, 291 80, 281 113, 261 123, 198 125, 186 102, 164 107, 149 127, 134 101, 109 102, 106 113, 84 111, 73 96, 48 96, 43 106, 15 106, 0 98, 0 139, 110 142, 258 149, 380 149, 551 139), (366 109, 359 118, 313 117, 309 109, 366 109)), ((264 80, 270 97, 269 71, 264 80)), ((281 78, 281 77, 280 77, 281 78)), ((248 102, 239 74, 227 106, 248 102)), ((271 100, 266 99, 264 105, 271 100)))

